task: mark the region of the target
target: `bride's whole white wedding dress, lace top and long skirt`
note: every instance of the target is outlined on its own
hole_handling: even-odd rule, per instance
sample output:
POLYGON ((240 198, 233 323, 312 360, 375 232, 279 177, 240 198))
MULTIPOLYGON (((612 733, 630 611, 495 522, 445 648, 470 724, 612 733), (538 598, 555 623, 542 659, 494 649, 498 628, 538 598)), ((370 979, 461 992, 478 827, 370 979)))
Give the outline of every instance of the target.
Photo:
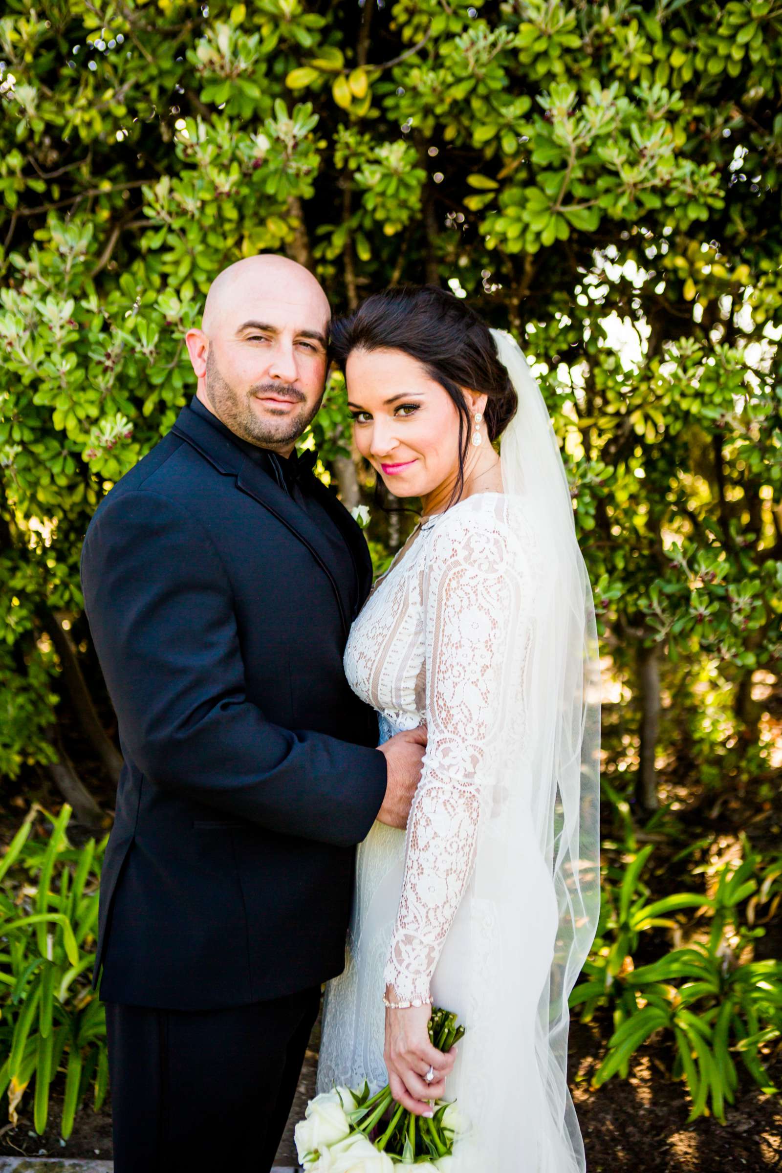
POLYGON ((428 746, 407 834, 375 822, 358 848, 318 1091, 365 1078, 383 1086, 386 984, 400 1001, 431 996, 467 1028, 447 1083, 470 1125, 454 1173, 572 1173, 580 1133, 569 1093, 557 1090, 552 1113, 548 1040, 536 1029, 558 911, 525 724, 528 651, 552 584, 545 535, 511 517, 509 500, 478 493, 414 530, 351 630, 347 678, 379 711, 381 740, 426 721, 428 746), (511 813, 519 829, 509 848, 511 813))

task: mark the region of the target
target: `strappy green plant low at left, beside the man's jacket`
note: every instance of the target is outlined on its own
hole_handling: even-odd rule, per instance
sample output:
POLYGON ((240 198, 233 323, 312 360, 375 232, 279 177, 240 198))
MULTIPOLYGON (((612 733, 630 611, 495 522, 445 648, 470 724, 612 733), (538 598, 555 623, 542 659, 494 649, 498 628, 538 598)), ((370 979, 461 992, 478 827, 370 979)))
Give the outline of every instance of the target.
POLYGON ((90 989, 95 961, 97 882, 106 841, 75 849, 63 806, 48 839, 32 839, 33 807, 0 859, 0 1099, 13 1124, 29 1084, 33 1120, 42 1133, 50 1085, 64 1072, 60 1125, 64 1139, 94 1089, 97 1111, 108 1089, 106 1018, 90 989))

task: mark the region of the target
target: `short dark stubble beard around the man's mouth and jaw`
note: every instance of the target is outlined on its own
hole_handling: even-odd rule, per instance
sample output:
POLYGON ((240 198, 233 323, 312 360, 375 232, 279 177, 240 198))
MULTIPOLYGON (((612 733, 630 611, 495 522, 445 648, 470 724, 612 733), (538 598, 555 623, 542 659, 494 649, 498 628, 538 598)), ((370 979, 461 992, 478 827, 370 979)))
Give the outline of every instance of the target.
POLYGON ((206 398, 218 420, 222 420, 234 435, 240 436, 243 440, 249 440, 250 443, 254 443, 259 448, 286 448, 297 441, 318 414, 324 398, 321 394, 314 407, 310 409, 302 393, 297 387, 291 387, 287 384, 261 382, 256 384, 246 392, 234 391, 218 371, 217 361, 211 350, 206 354, 204 381, 206 398), (279 394, 286 399, 299 400, 301 409, 293 416, 286 415, 284 419, 280 419, 278 425, 274 425, 270 420, 261 420, 253 412, 250 400, 253 394, 264 393, 267 395, 279 394))

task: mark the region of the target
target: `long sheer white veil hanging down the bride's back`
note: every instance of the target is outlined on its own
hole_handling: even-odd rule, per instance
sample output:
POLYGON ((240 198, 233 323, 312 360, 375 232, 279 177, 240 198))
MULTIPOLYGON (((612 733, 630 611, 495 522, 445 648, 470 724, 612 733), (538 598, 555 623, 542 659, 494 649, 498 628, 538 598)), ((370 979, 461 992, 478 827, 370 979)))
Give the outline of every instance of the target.
POLYGON ((482 1087, 460 1089, 468 1116, 481 1101, 480 1151, 468 1134, 454 1167, 582 1173, 566 1080, 567 997, 600 903, 594 604, 545 401, 514 338, 491 334, 518 394, 501 438, 503 488, 536 602, 509 639, 518 687, 503 698, 501 767, 480 821, 472 882, 494 964, 480 1022, 465 1022, 460 1047, 470 1047, 470 1065, 481 1071, 482 1087))

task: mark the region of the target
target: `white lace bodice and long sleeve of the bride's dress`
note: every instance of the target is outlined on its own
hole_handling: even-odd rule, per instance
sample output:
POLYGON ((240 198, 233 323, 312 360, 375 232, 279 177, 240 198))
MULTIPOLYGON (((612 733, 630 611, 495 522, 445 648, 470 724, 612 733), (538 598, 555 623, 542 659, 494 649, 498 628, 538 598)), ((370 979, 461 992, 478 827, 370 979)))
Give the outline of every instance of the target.
POLYGON ((346 650, 352 687, 394 731, 428 726, 383 975, 392 1001, 430 997, 469 882, 482 792, 495 780, 496 726, 511 687, 504 651, 530 595, 503 502, 478 494, 423 528, 373 592, 346 650))

